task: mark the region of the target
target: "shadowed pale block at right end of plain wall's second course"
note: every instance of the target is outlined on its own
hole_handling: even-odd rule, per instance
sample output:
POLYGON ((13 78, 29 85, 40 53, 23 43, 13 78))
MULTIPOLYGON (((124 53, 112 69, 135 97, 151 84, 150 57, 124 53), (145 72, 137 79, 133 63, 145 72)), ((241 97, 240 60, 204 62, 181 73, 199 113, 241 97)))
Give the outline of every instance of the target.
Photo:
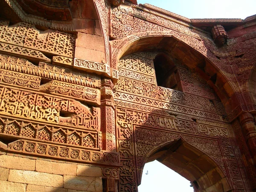
POLYGON ((64 175, 64 188, 102 192, 102 179, 99 177, 64 175))

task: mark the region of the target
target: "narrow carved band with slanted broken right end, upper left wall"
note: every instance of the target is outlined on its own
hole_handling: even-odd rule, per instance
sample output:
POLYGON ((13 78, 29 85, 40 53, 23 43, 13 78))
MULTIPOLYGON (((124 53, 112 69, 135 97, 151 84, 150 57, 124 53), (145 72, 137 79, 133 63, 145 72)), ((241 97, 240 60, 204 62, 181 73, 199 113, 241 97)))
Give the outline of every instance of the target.
POLYGON ((40 51, 35 51, 29 48, 19 47, 15 45, 9 45, 5 43, 0 43, 0 52, 12 54, 15 56, 22 56, 26 59, 36 59, 43 62, 51 62, 49 58, 44 56, 40 51))

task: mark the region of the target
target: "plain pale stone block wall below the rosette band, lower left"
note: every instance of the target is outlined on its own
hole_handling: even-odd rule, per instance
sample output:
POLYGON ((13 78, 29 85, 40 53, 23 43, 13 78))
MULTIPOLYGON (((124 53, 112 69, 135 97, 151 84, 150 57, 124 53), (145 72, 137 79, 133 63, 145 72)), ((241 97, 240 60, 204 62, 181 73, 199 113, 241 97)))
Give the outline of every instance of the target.
POLYGON ((102 192, 100 167, 0 155, 0 191, 102 192))

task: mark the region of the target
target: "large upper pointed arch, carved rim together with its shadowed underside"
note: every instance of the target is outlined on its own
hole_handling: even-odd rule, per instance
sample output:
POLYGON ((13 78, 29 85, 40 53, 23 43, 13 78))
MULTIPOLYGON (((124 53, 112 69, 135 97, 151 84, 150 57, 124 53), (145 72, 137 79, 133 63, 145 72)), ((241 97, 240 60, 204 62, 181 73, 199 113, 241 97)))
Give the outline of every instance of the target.
POLYGON ((233 110, 236 109, 239 113, 244 110, 242 105, 245 101, 240 99, 236 102, 239 100, 237 94, 241 92, 237 80, 229 75, 232 73, 230 67, 215 56, 213 52, 220 51, 210 42, 174 31, 151 31, 130 35, 122 41, 113 41, 112 44, 113 69, 117 69, 120 58, 125 55, 152 50, 166 52, 198 73, 212 87, 221 99, 230 121, 236 118, 232 114, 233 110), (231 104, 233 108, 230 108, 231 104))

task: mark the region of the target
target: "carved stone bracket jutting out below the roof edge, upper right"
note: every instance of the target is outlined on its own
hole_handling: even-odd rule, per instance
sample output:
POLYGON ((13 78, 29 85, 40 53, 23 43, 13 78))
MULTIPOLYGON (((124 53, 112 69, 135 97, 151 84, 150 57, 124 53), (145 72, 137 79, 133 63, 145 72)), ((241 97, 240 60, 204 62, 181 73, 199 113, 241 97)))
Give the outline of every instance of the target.
POLYGON ((221 25, 215 25, 212 27, 212 37, 217 46, 222 46, 227 42, 227 32, 221 25))

